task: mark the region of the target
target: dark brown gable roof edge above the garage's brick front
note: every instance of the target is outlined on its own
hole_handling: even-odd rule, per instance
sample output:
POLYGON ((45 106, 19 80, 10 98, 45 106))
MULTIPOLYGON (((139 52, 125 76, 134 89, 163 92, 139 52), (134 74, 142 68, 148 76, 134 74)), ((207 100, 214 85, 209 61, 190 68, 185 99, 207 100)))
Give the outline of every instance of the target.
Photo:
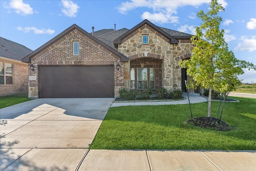
POLYGON ((107 46, 106 44, 104 44, 103 42, 101 42, 100 40, 98 40, 97 38, 95 38, 94 36, 92 36, 92 34, 89 34, 88 32, 86 32, 84 29, 80 28, 79 26, 77 26, 76 24, 73 24, 72 26, 70 26, 69 28, 67 28, 66 30, 64 30, 63 32, 61 32, 60 34, 58 34, 57 36, 55 36, 54 38, 52 38, 50 41, 46 42, 46 44, 40 46, 38 49, 36 49, 34 52, 32 52, 31 54, 29 54, 28 56, 26 56, 25 58, 22 59, 22 62, 31 62, 31 58, 33 56, 36 56, 36 54, 40 53, 42 50, 44 50, 45 48, 47 48, 48 46, 54 44, 56 41, 58 41, 60 38, 62 38, 63 36, 65 36, 68 32, 70 32, 73 29, 77 29, 80 32, 82 32, 83 34, 85 34, 86 36, 88 36, 89 38, 91 38, 92 40, 96 41, 97 43, 99 43, 100 45, 104 46, 104 48, 110 50, 112 53, 116 54, 117 56, 120 57, 121 62, 127 62, 128 58, 126 56, 124 56, 123 54, 116 52, 114 49, 110 48, 109 46, 107 46))

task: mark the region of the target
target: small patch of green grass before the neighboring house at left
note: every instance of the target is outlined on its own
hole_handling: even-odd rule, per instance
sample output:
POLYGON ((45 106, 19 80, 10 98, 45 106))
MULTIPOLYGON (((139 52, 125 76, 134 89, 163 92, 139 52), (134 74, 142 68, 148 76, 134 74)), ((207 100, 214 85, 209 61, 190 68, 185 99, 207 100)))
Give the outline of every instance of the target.
POLYGON ((8 107, 11 105, 15 105, 18 103, 22 103, 25 101, 30 101, 32 99, 29 99, 28 97, 24 96, 13 96, 13 95, 8 95, 8 96, 1 96, 0 97, 0 109, 4 107, 8 107))

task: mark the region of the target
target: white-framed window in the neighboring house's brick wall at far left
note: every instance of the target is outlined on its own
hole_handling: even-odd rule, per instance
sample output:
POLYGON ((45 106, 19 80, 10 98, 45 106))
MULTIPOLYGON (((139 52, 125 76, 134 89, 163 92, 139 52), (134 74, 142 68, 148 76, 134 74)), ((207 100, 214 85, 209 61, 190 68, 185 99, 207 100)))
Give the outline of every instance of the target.
POLYGON ((13 64, 0 62, 0 84, 12 85, 13 64))

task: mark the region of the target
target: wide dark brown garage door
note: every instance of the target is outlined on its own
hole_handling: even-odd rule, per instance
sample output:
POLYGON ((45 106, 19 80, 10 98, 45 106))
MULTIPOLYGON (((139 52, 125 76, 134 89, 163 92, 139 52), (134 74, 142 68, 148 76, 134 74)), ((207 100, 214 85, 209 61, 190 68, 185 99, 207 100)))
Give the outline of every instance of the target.
POLYGON ((39 66, 39 98, 114 97, 114 66, 39 66))

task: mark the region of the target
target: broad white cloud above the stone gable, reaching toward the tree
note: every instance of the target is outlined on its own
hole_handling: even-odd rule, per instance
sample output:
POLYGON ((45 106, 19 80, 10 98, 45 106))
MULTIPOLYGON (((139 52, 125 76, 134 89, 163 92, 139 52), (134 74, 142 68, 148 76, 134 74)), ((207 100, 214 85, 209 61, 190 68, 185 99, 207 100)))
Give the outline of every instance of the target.
MULTIPOLYGON (((152 9, 152 12, 144 11, 142 19, 148 19, 159 23, 178 23, 177 9, 183 6, 194 6, 197 8, 202 4, 209 4, 210 0, 130 0, 122 2, 117 8, 121 14, 127 14, 128 11, 136 8, 146 7, 152 9)), ((225 1, 224 1, 225 2, 225 1)), ((195 16, 189 16, 194 18, 195 16)))

